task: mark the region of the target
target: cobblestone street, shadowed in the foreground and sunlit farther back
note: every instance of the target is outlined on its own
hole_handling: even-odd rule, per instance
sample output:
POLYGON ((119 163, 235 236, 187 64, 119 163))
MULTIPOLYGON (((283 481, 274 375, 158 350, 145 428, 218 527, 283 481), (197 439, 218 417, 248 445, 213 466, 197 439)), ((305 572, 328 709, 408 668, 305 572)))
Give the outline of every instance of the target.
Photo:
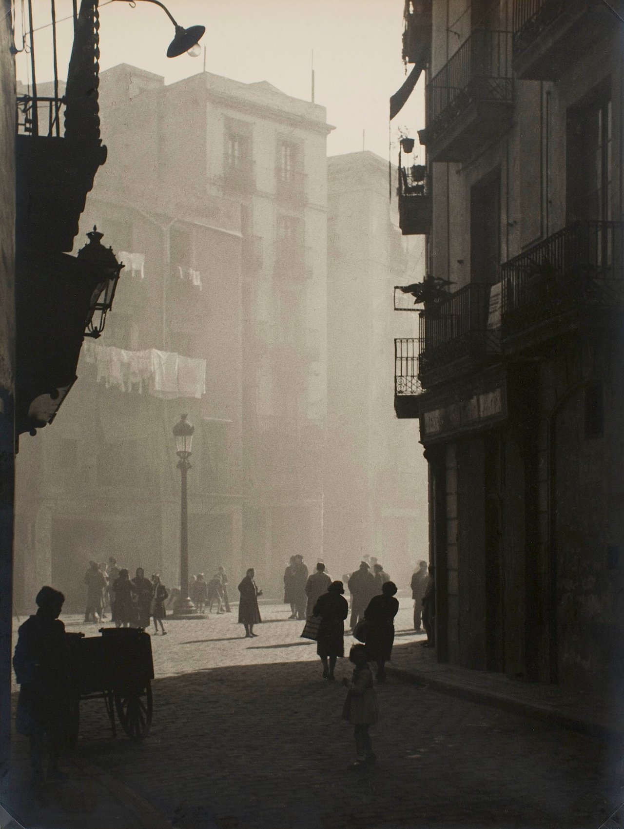
MULTIPOLYGON (((410 604, 396 618, 401 662, 423 639, 410 631, 410 604)), ((144 743, 110 739, 103 704, 82 703, 81 753, 175 827, 598 829, 624 801, 619 749, 393 678, 377 686, 377 765, 348 770, 353 733, 339 679, 351 666, 339 660, 338 681, 323 681, 302 623, 283 605, 261 609, 256 639, 242 638, 236 608, 170 620, 168 635, 152 638, 144 743)))

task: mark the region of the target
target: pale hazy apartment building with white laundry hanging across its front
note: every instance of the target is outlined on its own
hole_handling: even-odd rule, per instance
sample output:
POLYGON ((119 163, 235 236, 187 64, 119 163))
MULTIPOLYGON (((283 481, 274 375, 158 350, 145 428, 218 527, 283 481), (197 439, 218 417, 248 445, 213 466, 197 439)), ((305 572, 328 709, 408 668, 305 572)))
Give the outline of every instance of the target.
POLYGON ((81 233, 98 225, 125 267, 62 418, 22 448, 17 601, 51 581, 78 605, 108 555, 178 583, 182 411, 190 572, 276 584, 288 550, 321 543, 324 108, 120 65, 100 110, 108 164, 81 233))

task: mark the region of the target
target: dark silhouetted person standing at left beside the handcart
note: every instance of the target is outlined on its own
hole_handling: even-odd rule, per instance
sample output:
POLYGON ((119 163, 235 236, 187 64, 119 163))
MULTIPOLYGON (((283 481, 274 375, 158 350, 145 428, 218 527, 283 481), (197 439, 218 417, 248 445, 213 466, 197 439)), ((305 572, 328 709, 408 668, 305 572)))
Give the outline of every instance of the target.
POLYGON ((65 596, 42 587, 36 596, 39 608, 17 633, 13 667, 20 684, 17 731, 30 739, 31 783, 46 781, 44 761, 49 754, 47 777, 65 779, 60 771, 60 749, 70 734, 70 653, 65 625, 60 621, 65 596))

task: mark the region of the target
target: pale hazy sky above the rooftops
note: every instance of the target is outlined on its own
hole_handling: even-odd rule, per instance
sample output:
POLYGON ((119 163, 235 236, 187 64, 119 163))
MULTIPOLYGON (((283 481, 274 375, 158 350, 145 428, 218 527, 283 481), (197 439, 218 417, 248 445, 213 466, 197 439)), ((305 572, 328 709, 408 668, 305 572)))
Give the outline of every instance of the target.
MULTIPOLYGON (((234 80, 268 80, 287 95, 310 100, 314 50, 315 101, 327 107, 328 153, 352 153, 365 147, 388 155, 388 99, 403 80, 401 61, 403 0, 169 0, 182 26, 203 24, 206 70, 234 80)), ((17 46, 22 41, 22 0, 16 0, 17 46)), ((71 0, 56 0, 57 19, 71 13, 71 0)), ((50 0, 33 0, 34 25, 50 21, 50 0)), ((26 10, 27 14, 27 10, 26 10)), ((196 58, 166 57, 173 27, 161 8, 137 0, 100 2, 100 65, 129 63, 164 75, 166 83, 200 72, 196 58)), ((59 22, 59 73, 65 76, 72 36, 71 21, 59 22)), ((51 28, 36 32, 37 80, 50 80, 51 28)), ((17 76, 26 81, 29 59, 17 59, 17 76)), ((423 81, 392 122, 396 161, 397 128, 412 135, 423 123, 423 81)))

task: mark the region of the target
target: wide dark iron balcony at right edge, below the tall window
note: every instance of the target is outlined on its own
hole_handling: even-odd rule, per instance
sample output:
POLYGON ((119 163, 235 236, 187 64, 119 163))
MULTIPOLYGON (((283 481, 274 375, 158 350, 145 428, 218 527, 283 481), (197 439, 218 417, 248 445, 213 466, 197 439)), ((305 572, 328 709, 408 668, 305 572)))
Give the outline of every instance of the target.
POLYGON ((624 308, 624 223, 578 221, 502 265, 502 345, 539 345, 624 308))

